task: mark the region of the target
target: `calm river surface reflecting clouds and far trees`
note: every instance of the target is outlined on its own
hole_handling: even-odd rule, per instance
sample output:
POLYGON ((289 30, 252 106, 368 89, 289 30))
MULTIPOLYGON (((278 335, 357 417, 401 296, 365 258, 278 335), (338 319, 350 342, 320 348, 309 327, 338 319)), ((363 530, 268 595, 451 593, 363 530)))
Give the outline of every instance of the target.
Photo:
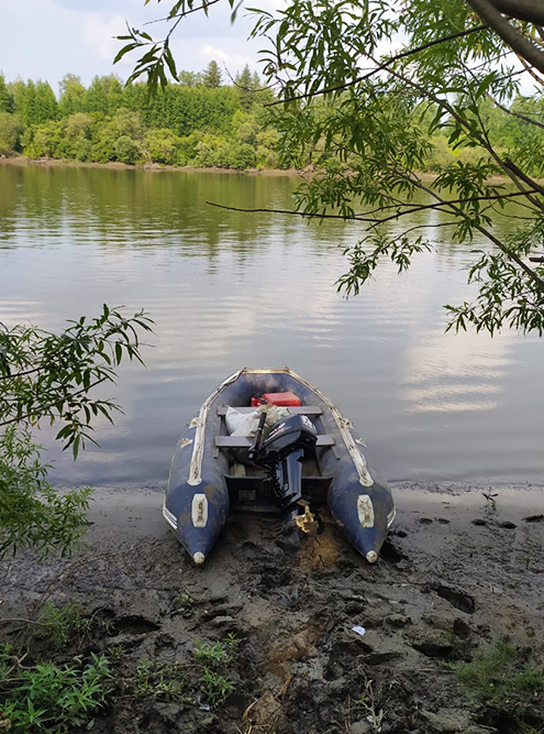
POLYGON ((386 265, 345 300, 334 282, 355 224, 204 204, 289 208, 296 184, 0 165, 0 320, 58 329, 104 302, 155 320, 147 369, 123 368, 109 391, 125 413, 97 424, 100 449, 74 463, 42 431, 54 480, 164 483, 178 434, 219 382, 287 364, 352 419, 391 481, 544 483, 544 341, 444 333, 442 306, 470 296, 466 250, 445 229, 430 230, 436 250, 408 274, 386 265))

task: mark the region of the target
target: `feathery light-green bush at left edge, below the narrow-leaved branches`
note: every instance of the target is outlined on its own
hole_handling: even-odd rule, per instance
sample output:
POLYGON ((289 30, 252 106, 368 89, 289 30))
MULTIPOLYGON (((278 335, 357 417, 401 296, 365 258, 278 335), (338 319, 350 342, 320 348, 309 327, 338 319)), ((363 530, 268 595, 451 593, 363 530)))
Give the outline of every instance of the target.
POLYGON ((0 434, 0 557, 19 549, 41 558, 68 552, 85 529, 90 490, 60 495, 47 482, 40 447, 22 426, 0 434))

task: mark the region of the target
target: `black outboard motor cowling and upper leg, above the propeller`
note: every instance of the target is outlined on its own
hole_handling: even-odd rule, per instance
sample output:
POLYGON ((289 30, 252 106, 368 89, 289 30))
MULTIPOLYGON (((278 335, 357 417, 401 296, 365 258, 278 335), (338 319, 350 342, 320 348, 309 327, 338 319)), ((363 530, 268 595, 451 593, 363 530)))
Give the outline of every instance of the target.
POLYGON ((259 447, 255 463, 266 467, 276 496, 282 508, 302 496, 302 458, 313 449, 318 431, 304 415, 281 418, 274 424, 268 438, 259 447))

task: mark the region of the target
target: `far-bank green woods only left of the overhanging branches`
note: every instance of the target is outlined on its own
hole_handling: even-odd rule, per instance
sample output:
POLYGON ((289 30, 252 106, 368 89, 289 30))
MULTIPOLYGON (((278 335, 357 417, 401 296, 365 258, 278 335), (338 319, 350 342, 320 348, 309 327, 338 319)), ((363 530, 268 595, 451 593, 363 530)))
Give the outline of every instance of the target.
MULTIPOLYGON (((245 76, 247 84, 258 81, 249 69, 245 76)), ((155 97, 143 84, 123 88, 115 76, 96 76, 86 89, 69 74, 58 103, 42 83, 16 81, 5 90, 18 114, 0 111, 0 155, 22 150, 31 158, 129 165, 279 165, 277 135, 262 119, 262 108, 244 112, 243 94, 221 86, 217 63, 202 75, 181 74, 180 84, 168 84, 155 97)))

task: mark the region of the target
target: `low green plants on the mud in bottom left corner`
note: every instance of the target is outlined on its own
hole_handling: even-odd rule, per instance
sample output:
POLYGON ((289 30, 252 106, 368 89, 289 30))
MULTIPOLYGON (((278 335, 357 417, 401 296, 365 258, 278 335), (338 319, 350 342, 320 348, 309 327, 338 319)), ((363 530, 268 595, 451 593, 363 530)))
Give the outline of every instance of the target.
POLYGON ((59 734, 92 723, 110 691, 108 658, 91 654, 87 665, 38 662, 22 667, 13 648, 0 650, 0 727, 13 734, 59 734))

